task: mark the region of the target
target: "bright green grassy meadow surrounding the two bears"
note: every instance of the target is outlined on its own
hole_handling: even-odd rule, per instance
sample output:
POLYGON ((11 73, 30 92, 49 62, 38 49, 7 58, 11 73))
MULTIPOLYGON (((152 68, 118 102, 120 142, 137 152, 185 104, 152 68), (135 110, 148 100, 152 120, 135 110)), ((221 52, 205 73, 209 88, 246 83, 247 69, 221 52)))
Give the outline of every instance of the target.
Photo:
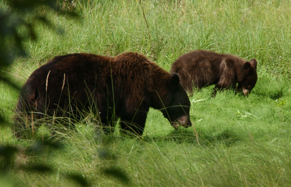
MULTIPOLYGON (((63 34, 36 25, 38 39, 24 44, 28 57, 5 74, 22 85, 47 60, 76 52, 137 51, 170 70, 180 55, 202 49, 257 59, 258 82, 249 97, 225 91, 213 98, 213 86, 195 91, 190 118, 198 136, 193 127, 173 129, 150 109, 140 138, 121 137, 118 129, 106 137, 81 123, 58 136, 61 150, 28 153, 23 147, 37 147, 35 140, 17 140, 1 126, 0 144, 23 150, 9 175, 0 174, 0 186, 78 186, 64 173, 80 173, 91 186, 291 186, 290 0, 96 0, 76 1, 75 10, 80 20, 40 8, 63 34), (22 169, 33 162, 49 163, 52 172, 22 169)), ((8 122, 17 97, 0 82, 8 122)))

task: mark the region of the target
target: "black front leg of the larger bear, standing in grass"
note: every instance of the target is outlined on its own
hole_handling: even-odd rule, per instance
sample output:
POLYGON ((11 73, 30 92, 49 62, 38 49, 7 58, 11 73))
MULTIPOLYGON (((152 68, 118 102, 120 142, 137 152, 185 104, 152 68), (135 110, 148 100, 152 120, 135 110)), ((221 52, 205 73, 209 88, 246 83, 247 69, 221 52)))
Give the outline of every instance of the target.
POLYGON ((132 116, 122 116, 120 121, 121 132, 141 136, 146 124, 146 115, 146 112, 139 111, 132 116))

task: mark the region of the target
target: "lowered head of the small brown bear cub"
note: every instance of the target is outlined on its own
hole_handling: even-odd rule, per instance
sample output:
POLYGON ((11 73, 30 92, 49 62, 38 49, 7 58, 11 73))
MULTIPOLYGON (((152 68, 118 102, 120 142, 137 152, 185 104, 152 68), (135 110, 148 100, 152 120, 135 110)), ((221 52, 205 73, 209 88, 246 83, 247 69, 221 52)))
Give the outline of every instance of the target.
POLYGON ((245 62, 238 76, 238 90, 242 90, 244 96, 247 96, 256 85, 257 79, 257 60, 252 59, 249 62, 245 62))

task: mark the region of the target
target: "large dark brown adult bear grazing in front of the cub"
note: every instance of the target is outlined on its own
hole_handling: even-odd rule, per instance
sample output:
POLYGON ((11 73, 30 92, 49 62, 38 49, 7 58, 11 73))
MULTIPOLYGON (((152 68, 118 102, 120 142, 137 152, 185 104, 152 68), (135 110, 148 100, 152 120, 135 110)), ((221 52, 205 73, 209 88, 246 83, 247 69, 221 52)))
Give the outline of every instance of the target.
POLYGON ((25 119, 45 115, 80 119, 93 112, 104 127, 114 127, 120 117, 123 132, 141 135, 150 107, 161 110, 175 129, 192 125, 190 100, 178 74, 163 70, 145 55, 63 55, 28 78, 16 109, 24 117, 18 117, 15 126, 25 129, 25 119))

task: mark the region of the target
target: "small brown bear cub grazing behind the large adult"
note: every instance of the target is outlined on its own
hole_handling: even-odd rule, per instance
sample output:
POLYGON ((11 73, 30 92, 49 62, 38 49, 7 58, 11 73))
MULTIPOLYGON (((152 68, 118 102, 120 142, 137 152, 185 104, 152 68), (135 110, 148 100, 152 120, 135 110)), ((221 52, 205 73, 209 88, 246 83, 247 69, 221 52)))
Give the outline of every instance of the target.
POLYGON ((215 84, 213 96, 219 89, 230 88, 242 90, 246 96, 258 79, 256 59, 248 62, 235 55, 206 50, 195 50, 180 56, 170 72, 179 74, 180 84, 189 93, 192 93, 193 87, 200 89, 215 84))

